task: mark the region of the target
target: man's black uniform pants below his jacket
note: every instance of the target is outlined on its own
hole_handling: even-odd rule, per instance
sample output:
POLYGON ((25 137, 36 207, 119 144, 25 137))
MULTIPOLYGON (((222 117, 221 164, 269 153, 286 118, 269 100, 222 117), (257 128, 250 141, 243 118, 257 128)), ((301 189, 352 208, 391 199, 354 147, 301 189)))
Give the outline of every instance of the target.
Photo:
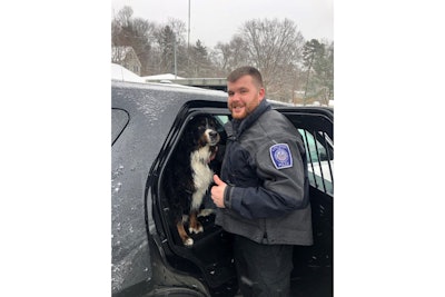
POLYGON ((244 297, 289 296, 293 246, 261 245, 236 235, 234 256, 244 297))

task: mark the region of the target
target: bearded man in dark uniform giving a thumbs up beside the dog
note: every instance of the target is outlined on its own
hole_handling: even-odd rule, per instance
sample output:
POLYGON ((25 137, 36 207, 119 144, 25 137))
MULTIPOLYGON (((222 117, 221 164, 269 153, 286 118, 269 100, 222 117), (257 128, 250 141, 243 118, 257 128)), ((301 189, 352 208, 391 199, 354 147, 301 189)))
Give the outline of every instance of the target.
POLYGON ((313 244, 305 147, 285 116, 265 100, 253 67, 227 78, 233 120, 220 177, 211 199, 216 224, 234 234, 234 256, 244 296, 288 296, 293 245, 313 244))

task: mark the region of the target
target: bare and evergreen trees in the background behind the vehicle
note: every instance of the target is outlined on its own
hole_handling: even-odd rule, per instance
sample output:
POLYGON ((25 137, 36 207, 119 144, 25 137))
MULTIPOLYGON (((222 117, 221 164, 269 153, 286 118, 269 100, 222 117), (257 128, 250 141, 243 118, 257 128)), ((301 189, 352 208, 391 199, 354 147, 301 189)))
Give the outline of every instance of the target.
POLYGON ((235 68, 250 65, 261 71, 270 99, 303 103, 334 99, 334 42, 305 40, 293 20, 246 21, 229 42, 209 49, 199 39, 188 43, 181 20, 159 24, 132 14, 131 7, 123 7, 112 17, 111 46, 132 47, 141 76, 176 72, 186 78, 225 78, 235 68))

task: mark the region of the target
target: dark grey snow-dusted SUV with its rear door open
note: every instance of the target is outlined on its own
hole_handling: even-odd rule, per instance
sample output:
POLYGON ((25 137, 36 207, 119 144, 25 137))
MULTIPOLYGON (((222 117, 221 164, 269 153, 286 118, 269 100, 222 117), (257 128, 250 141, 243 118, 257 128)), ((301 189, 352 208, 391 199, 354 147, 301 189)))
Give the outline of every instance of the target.
MULTIPOLYGON (((274 108, 286 115, 310 151, 314 245, 294 248, 291 290, 333 296, 334 111, 323 107, 274 108), (317 170, 324 166, 328 170, 317 170)), ((231 236, 200 218, 205 232, 185 247, 169 219, 164 177, 190 117, 230 120, 227 93, 176 85, 111 82, 111 219, 113 296, 235 296, 231 236)), ((224 140, 222 140, 224 141, 224 140)))

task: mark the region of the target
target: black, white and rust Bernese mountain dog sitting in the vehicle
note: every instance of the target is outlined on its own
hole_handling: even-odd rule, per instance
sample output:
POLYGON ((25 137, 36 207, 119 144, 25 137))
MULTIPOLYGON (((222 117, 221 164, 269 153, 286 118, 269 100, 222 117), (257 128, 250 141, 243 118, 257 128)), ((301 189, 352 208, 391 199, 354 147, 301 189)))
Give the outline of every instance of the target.
POLYGON ((184 226, 187 224, 187 215, 189 234, 204 231, 197 217, 202 199, 214 180, 210 161, 216 157, 219 140, 215 119, 205 113, 195 116, 187 123, 169 161, 165 190, 169 199, 170 219, 175 221, 186 247, 194 245, 194 239, 184 226))

